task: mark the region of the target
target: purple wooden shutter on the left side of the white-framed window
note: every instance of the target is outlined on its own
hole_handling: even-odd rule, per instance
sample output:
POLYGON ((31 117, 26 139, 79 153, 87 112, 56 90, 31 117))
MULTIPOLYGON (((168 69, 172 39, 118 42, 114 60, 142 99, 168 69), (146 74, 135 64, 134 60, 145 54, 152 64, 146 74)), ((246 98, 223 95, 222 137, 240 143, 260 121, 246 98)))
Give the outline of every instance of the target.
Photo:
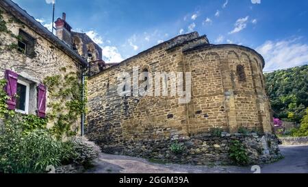
POLYGON ((6 101, 9 110, 15 110, 16 108, 16 92, 17 92, 17 79, 18 74, 14 71, 5 70, 5 79, 7 81, 5 85, 5 92, 8 94, 10 99, 6 101))

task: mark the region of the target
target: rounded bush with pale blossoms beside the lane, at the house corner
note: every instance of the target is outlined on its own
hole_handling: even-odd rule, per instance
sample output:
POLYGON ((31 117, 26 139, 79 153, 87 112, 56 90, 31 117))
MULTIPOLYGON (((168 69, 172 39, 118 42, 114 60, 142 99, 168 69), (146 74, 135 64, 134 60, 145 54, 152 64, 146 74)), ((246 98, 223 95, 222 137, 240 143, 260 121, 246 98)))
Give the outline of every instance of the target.
POLYGON ((99 153, 101 153, 101 149, 86 137, 76 136, 70 138, 66 144, 68 147, 71 145, 73 149, 70 149, 70 152, 64 154, 64 159, 66 158, 73 162, 84 164, 98 158, 99 153))

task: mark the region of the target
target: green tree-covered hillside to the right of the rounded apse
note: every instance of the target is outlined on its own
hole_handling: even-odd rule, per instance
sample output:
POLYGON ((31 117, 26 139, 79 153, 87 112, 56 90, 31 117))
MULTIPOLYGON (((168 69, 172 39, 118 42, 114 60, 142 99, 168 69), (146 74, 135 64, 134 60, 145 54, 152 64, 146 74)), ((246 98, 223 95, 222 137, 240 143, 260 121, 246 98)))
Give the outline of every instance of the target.
POLYGON ((266 73, 274 117, 300 123, 308 105, 308 65, 266 73))

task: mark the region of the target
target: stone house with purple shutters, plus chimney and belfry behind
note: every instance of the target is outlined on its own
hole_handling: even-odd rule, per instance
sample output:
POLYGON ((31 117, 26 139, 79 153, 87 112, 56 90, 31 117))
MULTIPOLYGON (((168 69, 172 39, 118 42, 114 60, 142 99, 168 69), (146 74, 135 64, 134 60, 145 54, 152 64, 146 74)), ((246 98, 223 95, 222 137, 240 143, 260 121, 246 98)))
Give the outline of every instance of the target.
MULTIPOLYGON (((52 93, 44 82, 48 77, 57 78, 57 82, 72 80, 73 77, 81 84, 81 72, 88 68, 88 62, 104 64, 101 48, 86 34, 71 31, 66 14, 55 21, 55 36, 16 3, 1 0, 0 22, 0 78, 8 81, 5 89, 12 97, 8 101, 9 108, 22 114, 40 117, 52 114, 53 118, 57 118, 59 116, 54 114, 53 106, 58 105, 58 108, 61 106, 66 110, 62 115, 66 114, 65 104, 72 101, 74 95, 70 93, 66 102, 60 104, 55 90, 52 93)), ((75 114, 75 121, 70 122, 72 131, 79 131, 80 116, 75 114)), ((49 127, 57 123, 51 118, 49 122, 49 127)))

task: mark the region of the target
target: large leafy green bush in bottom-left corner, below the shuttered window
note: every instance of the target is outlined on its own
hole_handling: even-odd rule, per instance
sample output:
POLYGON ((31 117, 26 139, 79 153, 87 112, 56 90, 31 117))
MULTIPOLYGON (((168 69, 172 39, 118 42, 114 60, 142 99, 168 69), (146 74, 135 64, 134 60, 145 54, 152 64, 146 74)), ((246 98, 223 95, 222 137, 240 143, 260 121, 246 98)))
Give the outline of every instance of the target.
POLYGON ((0 173, 43 173, 60 164, 61 143, 46 130, 25 134, 18 123, 8 123, 0 134, 0 173))

